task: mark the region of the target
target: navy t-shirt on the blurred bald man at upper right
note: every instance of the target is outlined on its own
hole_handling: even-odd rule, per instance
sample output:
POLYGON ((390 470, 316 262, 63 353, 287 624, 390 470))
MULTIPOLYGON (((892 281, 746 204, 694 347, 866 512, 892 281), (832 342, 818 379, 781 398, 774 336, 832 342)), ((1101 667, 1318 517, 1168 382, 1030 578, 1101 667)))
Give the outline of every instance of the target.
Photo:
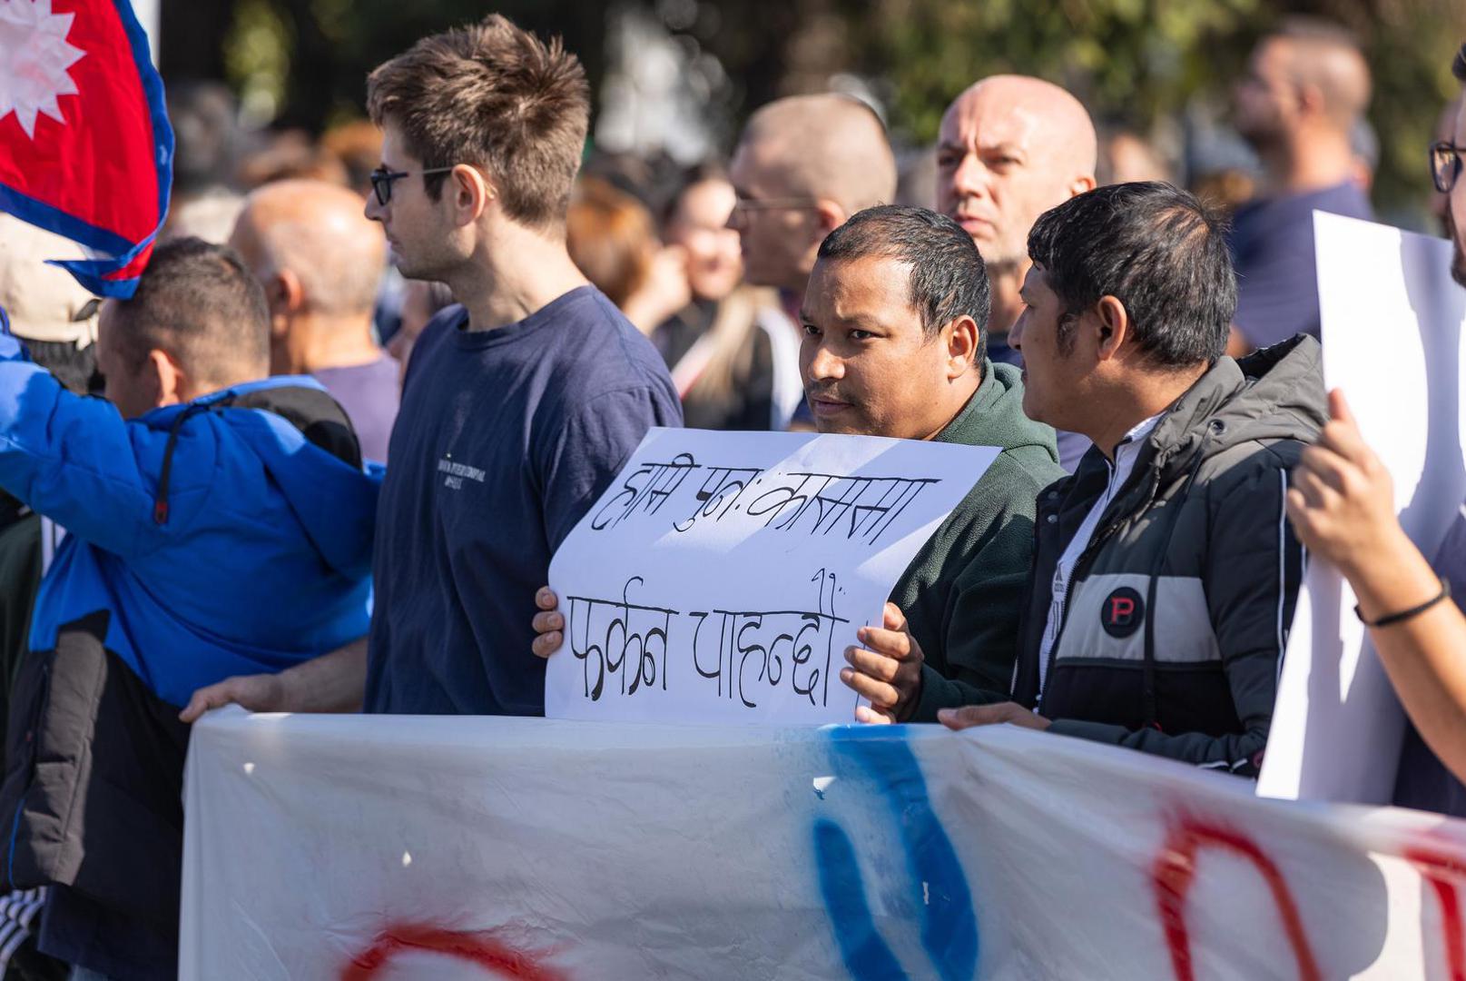
POLYGON ((1318 265, 1314 211, 1374 221, 1369 198, 1355 183, 1245 204, 1231 220, 1237 268, 1233 323, 1253 348, 1293 334, 1318 337, 1318 265))

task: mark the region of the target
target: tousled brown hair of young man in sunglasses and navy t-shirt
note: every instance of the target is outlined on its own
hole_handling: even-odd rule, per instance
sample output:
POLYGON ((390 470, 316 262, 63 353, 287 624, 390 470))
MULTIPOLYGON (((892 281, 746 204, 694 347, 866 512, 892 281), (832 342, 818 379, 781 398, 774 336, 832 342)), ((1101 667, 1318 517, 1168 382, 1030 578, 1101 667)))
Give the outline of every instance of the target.
MULTIPOLYGON (((482 166, 510 218, 564 220, 591 88, 560 38, 547 44, 497 13, 425 37, 366 76, 366 110, 378 126, 402 128, 424 169, 482 166)), ((444 179, 424 179, 434 201, 444 179)))

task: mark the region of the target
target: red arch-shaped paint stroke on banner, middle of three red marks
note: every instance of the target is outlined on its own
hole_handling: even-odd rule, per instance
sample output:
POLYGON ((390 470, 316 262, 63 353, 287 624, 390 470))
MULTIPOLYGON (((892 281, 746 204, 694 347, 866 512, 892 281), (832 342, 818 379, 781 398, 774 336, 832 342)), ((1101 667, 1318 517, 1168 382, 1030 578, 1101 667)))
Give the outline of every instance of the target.
POLYGON ((1186 894, 1196 880, 1196 855, 1204 848, 1218 848, 1240 858, 1248 859, 1262 874, 1262 881, 1272 893, 1272 902, 1283 916, 1283 931, 1293 956, 1297 960, 1297 972, 1302 981, 1321 981, 1318 960, 1303 933, 1303 918, 1297 912, 1297 902, 1287 887, 1283 872, 1246 836, 1230 828, 1185 820, 1171 828, 1161 846, 1161 853, 1151 868, 1151 883, 1155 887, 1155 902, 1161 912, 1161 925, 1165 928, 1165 944, 1171 952, 1171 966, 1177 981, 1195 981, 1190 956, 1190 930, 1186 925, 1186 894))

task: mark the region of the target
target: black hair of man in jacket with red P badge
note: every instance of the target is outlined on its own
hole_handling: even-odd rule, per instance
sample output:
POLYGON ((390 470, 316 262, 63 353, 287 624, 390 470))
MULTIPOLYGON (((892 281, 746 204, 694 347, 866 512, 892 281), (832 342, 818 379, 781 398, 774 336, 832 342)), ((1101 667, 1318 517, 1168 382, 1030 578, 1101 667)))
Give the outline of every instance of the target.
POLYGON ((1237 277, 1226 226, 1180 188, 1154 180, 1076 195, 1039 216, 1028 254, 1070 314, 1114 296, 1141 350, 1163 368, 1227 350, 1237 277))

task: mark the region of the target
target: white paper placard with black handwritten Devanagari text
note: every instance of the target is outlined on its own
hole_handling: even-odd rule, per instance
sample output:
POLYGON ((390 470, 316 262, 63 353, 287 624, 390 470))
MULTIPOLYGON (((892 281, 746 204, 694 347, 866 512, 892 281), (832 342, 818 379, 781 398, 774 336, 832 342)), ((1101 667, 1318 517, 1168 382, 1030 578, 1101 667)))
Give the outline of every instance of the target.
POLYGON ((550 563, 545 714, 849 721, 839 672, 994 447, 654 428, 550 563))

